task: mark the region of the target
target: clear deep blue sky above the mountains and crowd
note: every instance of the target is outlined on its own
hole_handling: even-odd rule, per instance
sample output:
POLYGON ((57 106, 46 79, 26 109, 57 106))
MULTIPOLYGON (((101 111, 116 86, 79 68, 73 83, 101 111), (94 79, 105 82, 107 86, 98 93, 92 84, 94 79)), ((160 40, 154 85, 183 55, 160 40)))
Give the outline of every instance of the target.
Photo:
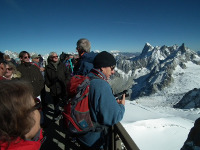
POLYGON ((199 0, 0 0, 0 51, 141 52, 145 43, 200 50, 199 0))

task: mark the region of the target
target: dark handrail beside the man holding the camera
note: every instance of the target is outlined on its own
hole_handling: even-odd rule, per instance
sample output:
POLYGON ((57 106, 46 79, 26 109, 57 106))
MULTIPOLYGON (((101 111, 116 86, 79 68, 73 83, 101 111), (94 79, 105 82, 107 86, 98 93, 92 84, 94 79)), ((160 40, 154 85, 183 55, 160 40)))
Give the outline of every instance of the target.
POLYGON ((133 139, 119 122, 112 128, 112 150, 121 150, 122 143, 127 150, 139 150, 133 139))

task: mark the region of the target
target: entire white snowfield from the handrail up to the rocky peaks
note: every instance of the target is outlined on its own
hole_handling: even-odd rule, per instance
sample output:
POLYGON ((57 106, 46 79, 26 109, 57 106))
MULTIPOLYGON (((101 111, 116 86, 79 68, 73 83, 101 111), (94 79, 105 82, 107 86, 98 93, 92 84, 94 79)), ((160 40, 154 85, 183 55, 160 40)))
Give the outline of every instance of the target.
POLYGON ((186 69, 177 66, 174 83, 163 91, 135 101, 126 100, 125 115, 121 121, 141 150, 180 150, 194 121, 200 117, 198 109, 175 109, 183 95, 200 88, 200 66, 186 63, 186 69))

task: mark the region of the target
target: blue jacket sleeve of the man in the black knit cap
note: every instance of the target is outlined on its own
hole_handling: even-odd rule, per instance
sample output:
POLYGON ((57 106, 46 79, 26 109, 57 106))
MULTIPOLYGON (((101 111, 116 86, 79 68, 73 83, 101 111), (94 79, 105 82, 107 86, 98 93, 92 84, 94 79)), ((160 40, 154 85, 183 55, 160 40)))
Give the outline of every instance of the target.
POLYGON ((112 94, 111 87, 106 81, 97 79, 94 82, 94 84, 90 85, 94 120, 104 125, 118 123, 123 118, 125 112, 124 105, 117 103, 112 94))

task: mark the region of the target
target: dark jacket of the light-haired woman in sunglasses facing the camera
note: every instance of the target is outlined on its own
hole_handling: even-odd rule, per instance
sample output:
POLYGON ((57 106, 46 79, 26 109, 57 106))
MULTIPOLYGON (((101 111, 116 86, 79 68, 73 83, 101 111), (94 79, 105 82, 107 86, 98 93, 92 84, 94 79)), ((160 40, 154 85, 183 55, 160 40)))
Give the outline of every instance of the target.
POLYGON ((57 69, 50 62, 45 68, 45 84, 50 88, 52 96, 66 96, 66 85, 70 80, 70 72, 61 62, 58 63, 57 69))

